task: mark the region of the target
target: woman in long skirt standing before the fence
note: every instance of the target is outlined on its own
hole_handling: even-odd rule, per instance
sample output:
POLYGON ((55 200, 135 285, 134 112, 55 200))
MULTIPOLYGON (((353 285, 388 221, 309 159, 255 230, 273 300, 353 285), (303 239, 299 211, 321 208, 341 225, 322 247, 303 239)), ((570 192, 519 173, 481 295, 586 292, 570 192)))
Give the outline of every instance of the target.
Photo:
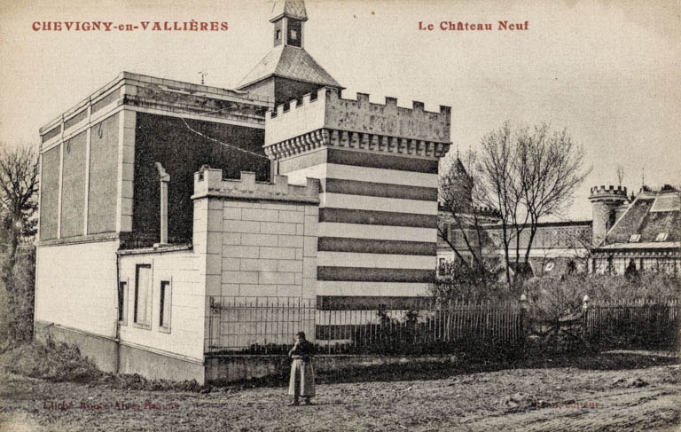
POLYGON ((305 339, 303 332, 295 335, 294 348, 288 351, 288 357, 293 358, 291 364, 291 379, 288 382, 288 394, 294 397, 293 405, 310 405, 309 399, 315 396, 315 371, 312 369, 314 345, 305 339))

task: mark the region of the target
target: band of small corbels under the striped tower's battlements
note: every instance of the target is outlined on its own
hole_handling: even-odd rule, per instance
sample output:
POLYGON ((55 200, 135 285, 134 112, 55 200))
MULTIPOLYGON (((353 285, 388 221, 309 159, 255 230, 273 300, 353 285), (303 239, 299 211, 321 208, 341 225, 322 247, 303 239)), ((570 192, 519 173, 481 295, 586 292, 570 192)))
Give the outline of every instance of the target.
POLYGON ((438 159, 450 149, 450 143, 438 143, 402 137, 387 137, 347 130, 314 130, 298 137, 266 145, 265 154, 270 159, 286 159, 323 147, 348 148, 371 153, 388 153, 395 156, 438 159))

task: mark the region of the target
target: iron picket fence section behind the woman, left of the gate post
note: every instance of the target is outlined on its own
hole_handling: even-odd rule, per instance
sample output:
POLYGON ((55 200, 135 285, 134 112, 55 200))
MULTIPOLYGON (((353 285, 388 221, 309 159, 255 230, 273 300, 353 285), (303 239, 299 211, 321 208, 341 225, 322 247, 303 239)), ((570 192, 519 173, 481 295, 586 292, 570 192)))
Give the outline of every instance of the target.
POLYGON ((303 331, 329 354, 446 352, 523 339, 519 302, 415 302, 414 309, 317 309, 311 300, 211 297, 207 350, 284 353, 303 331))

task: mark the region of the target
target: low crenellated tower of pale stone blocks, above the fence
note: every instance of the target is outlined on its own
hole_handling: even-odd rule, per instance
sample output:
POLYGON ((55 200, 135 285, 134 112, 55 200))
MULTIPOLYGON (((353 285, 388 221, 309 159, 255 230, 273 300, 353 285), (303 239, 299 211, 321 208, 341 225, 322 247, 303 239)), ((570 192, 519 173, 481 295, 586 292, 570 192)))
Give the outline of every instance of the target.
POLYGON ((206 251, 207 297, 316 297, 318 180, 259 183, 249 172, 223 180, 221 169, 194 180, 195 211, 206 213, 205 245, 200 232, 194 243, 206 251))

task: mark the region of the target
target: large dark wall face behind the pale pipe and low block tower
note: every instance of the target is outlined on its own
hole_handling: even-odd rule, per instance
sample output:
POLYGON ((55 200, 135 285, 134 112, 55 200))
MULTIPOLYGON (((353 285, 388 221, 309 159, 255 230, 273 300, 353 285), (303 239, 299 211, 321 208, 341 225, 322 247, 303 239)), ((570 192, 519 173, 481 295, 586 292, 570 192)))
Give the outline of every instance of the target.
POLYGON ((137 234, 159 232, 160 162, 170 175, 168 185, 168 237, 192 239, 194 172, 204 164, 223 169, 223 175, 239 178, 240 171, 254 171, 257 181, 270 179, 270 161, 264 157, 264 130, 222 123, 187 120, 193 130, 207 137, 234 145, 254 156, 215 143, 189 130, 182 119, 137 113, 135 137, 135 193, 133 231, 137 234))

